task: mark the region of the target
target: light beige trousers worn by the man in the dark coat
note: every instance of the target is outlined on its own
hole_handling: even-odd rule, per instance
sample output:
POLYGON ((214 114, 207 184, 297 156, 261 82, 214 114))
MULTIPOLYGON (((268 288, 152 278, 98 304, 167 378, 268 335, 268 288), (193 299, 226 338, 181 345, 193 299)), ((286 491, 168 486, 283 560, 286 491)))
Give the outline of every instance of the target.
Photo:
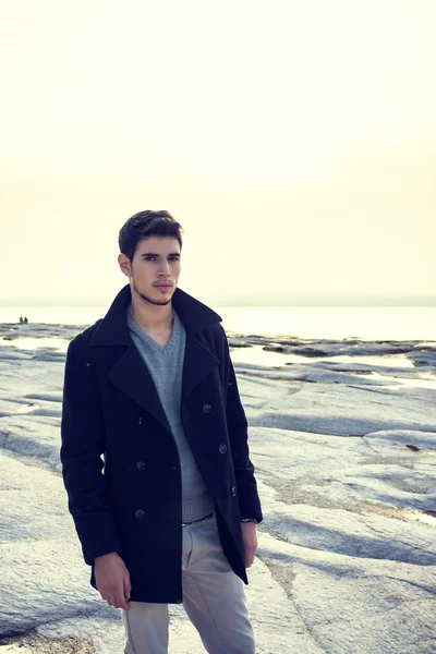
MULTIPOLYGON (((183 526, 182 584, 183 607, 206 652, 255 654, 244 583, 222 553, 215 514, 183 526)), ((131 602, 131 606, 121 609, 124 654, 167 654, 168 604, 131 602)))

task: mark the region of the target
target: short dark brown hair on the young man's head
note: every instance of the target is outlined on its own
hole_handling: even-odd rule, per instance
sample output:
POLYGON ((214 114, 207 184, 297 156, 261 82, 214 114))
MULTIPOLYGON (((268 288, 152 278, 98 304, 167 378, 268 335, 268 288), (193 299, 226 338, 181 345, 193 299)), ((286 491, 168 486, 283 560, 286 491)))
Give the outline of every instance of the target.
POLYGON ((129 218, 120 229, 120 252, 133 261, 136 245, 148 237, 174 237, 182 249, 182 226, 168 211, 140 211, 129 218))

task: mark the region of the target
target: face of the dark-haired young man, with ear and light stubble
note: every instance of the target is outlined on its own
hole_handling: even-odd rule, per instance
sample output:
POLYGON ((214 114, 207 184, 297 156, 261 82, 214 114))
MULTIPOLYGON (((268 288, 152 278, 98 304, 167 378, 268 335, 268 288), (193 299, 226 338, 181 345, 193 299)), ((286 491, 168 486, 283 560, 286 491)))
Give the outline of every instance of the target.
POLYGON ((132 263, 123 254, 119 263, 131 286, 150 304, 168 304, 180 275, 180 244, 173 237, 149 237, 136 245, 132 263))

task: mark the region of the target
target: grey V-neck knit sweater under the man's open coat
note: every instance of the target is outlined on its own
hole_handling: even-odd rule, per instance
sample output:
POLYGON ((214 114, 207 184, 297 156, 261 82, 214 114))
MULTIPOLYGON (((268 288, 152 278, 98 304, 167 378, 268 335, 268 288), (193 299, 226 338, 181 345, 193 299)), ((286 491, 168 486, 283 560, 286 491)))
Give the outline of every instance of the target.
POLYGON ((126 312, 129 329, 152 377, 174 436, 182 472, 182 521, 192 522, 214 510, 214 500, 186 439, 180 417, 182 370, 186 332, 174 311, 168 343, 162 347, 149 337, 126 312))

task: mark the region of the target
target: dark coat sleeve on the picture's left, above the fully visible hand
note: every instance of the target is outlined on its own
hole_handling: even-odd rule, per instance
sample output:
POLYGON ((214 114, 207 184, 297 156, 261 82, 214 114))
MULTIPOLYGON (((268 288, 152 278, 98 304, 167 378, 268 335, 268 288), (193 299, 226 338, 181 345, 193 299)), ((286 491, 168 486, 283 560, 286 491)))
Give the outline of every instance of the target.
POLYGON ((121 544, 101 472, 101 455, 106 450, 101 405, 86 356, 86 340, 82 335, 71 341, 66 353, 61 441, 60 459, 68 507, 85 562, 90 566, 97 556, 111 552, 121 556, 121 544))

